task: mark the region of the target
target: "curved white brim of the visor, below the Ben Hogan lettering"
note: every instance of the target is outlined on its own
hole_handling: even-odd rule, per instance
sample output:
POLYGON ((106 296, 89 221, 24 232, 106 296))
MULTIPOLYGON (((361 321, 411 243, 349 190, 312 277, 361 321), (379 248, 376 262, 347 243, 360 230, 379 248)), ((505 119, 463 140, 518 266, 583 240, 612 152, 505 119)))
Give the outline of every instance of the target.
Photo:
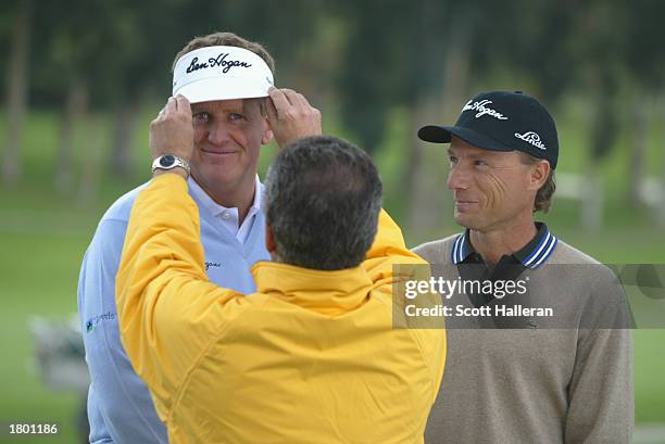
POLYGON ((241 77, 206 78, 192 81, 173 91, 174 96, 183 94, 190 103, 210 102, 213 100, 253 99, 267 97, 271 85, 258 85, 241 77))

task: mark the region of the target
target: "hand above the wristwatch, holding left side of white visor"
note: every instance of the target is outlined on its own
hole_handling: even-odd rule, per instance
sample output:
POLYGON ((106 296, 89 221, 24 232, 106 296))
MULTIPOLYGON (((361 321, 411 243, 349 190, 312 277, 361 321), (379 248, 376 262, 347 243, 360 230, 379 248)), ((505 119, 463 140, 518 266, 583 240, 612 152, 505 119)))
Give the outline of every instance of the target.
POLYGON ((189 162, 192 152, 191 106, 185 97, 178 94, 170 98, 156 118, 150 123, 150 153, 152 158, 173 154, 189 162))

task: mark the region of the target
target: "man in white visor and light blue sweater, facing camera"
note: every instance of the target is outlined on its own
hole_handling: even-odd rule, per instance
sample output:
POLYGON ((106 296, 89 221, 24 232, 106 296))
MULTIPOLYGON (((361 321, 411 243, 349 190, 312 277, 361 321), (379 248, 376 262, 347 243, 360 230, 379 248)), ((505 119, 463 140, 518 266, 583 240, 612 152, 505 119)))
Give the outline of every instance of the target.
MULTIPOLYGON (((208 278, 241 293, 255 291, 250 267, 269 258, 256 176, 261 145, 280 147, 321 134, 319 112, 301 94, 273 87, 265 49, 230 33, 197 37, 177 54, 173 96, 191 102, 193 152, 188 191, 198 205, 208 278), (269 97, 269 99, 266 99, 269 97)), ((180 164, 164 156, 155 168, 180 164)), ((150 393, 121 343, 115 276, 134 201, 146 185, 104 214, 83 261, 78 309, 91 376, 91 443, 167 443, 150 393)))

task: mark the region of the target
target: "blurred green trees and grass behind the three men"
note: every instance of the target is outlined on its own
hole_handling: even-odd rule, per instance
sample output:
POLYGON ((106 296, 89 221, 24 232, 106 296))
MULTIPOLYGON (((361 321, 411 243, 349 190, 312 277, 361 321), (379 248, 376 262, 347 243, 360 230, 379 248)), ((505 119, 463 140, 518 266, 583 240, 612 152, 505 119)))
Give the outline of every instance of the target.
MULTIPOLYGON (((460 229, 447 156, 417 128, 453 123, 479 90, 509 89, 557 122, 544 220, 601 261, 665 263, 663 17, 660 0, 1 2, 0 422, 57 420, 74 441, 83 395, 40 382, 27 320, 76 310, 85 249, 103 211, 149 178, 148 123, 192 37, 264 43, 277 86, 376 160, 411 246, 460 229)), ((639 423, 665 422, 663 333, 635 332, 639 423)))

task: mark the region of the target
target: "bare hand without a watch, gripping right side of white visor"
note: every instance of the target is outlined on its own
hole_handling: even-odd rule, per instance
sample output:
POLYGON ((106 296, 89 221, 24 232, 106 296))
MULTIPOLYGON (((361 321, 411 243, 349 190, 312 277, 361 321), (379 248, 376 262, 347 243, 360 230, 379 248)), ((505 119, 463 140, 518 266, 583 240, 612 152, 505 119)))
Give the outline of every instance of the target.
POLYGON ((321 136, 321 112, 291 89, 271 88, 266 109, 279 148, 308 136, 321 136))

